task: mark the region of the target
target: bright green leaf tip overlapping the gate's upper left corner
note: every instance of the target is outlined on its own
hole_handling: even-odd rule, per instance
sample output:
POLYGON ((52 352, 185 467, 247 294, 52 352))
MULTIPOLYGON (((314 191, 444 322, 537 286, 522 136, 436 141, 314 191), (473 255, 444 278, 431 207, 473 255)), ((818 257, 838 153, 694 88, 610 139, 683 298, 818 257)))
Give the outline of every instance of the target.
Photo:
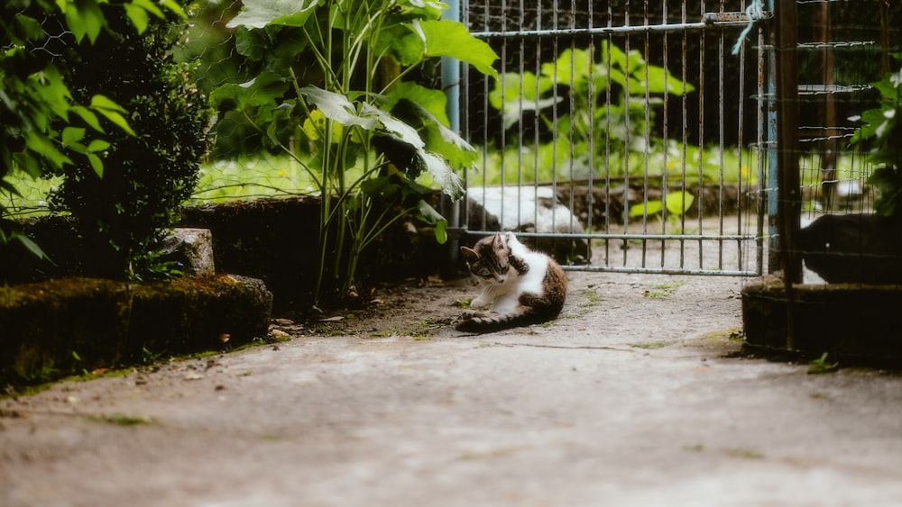
POLYGON ((450 20, 414 21, 426 41, 426 56, 459 59, 492 77, 498 72, 492 63, 498 55, 484 41, 476 39, 461 23, 450 20))

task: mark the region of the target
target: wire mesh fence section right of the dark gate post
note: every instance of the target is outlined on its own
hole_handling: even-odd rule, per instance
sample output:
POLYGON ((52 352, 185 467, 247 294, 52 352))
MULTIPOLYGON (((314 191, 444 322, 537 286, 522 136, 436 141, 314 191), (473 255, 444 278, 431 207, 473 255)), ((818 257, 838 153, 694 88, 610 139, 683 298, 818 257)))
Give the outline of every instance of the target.
MULTIPOLYGON (((891 76, 899 72, 900 60, 892 55, 902 50, 902 4, 804 1, 795 9, 798 68, 788 74, 796 80, 797 104, 779 106, 798 113, 802 233, 788 249, 805 258, 809 269, 802 281, 861 281, 865 278, 853 274, 862 263, 898 264, 898 254, 885 249, 895 241, 895 231, 883 233, 886 241, 866 235, 881 221, 879 215, 887 213, 880 209, 881 199, 895 192, 875 176, 880 177, 881 167, 894 170, 897 162, 886 166, 886 160, 871 157, 880 149, 879 140, 861 133, 873 122, 869 110, 899 101, 886 95, 879 82, 890 77, 892 86, 891 76), (835 217, 815 224, 824 215, 835 217), (824 267, 828 257, 836 258, 835 265, 826 261, 829 266, 824 267)), ((890 271, 871 281, 889 280, 890 271)))

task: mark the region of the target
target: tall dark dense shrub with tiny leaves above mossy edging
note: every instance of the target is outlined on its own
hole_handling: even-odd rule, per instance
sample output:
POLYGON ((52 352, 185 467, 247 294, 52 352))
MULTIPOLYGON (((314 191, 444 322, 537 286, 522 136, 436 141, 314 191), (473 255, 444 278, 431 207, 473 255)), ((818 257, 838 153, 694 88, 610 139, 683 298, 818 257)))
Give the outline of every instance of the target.
POLYGON ((166 273, 161 240, 197 183, 209 111, 189 68, 172 59, 179 41, 172 24, 154 18, 139 33, 128 15, 106 12, 112 31, 95 35, 95 44, 78 45, 69 77, 73 97, 90 99, 124 128, 89 143, 85 129, 62 128, 63 145, 82 152, 88 163, 56 171, 63 181, 51 206, 78 219, 92 249, 89 274, 141 279, 166 273), (101 91, 110 98, 98 99, 101 91))

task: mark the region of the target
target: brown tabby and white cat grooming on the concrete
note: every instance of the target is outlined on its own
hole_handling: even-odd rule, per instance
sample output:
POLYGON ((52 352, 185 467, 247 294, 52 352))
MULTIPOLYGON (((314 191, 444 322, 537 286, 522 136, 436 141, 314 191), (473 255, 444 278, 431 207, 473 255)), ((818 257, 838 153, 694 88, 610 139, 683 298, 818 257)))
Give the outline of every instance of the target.
POLYGON ((495 233, 461 247, 470 273, 482 292, 456 329, 488 332, 550 321, 564 307, 566 274, 548 255, 527 249, 513 232, 495 233))

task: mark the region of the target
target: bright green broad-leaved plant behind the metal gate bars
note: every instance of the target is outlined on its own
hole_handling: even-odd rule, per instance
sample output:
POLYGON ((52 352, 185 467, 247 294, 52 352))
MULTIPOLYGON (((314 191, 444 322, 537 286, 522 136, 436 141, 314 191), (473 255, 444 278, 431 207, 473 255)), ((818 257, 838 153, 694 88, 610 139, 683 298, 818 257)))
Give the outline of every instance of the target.
POLYGON ((608 146, 611 152, 648 149, 649 122, 655 116, 652 106, 663 104, 660 95, 693 91, 692 85, 666 68, 649 65, 640 51, 625 53, 602 41, 599 50, 565 50, 556 61, 542 64, 538 76, 531 72, 502 75, 495 81, 489 103, 502 112, 505 129, 519 122, 523 113, 537 113, 555 133, 554 140, 544 144, 554 147, 551 151, 560 157, 574 153, 575 165, 584 172, 592 167, 589 157, 611 156, 604 151, 608 146), (561 92, 564 86, 569 89, 566 95, 561 92), (549 114, 565 96, 569 113, 549 114))

